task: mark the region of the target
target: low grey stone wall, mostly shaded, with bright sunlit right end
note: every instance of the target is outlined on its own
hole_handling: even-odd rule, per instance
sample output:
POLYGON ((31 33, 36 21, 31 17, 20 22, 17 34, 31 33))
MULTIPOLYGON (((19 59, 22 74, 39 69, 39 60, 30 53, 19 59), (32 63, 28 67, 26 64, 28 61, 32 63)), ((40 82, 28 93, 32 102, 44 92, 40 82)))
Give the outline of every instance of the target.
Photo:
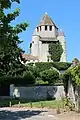
POLYGON ((60 100, 65 96, 63 85, 59 86, 31 86, 15 87, 10 86, 10 96, 17 95, 21 99, 27 100, 60 100))

